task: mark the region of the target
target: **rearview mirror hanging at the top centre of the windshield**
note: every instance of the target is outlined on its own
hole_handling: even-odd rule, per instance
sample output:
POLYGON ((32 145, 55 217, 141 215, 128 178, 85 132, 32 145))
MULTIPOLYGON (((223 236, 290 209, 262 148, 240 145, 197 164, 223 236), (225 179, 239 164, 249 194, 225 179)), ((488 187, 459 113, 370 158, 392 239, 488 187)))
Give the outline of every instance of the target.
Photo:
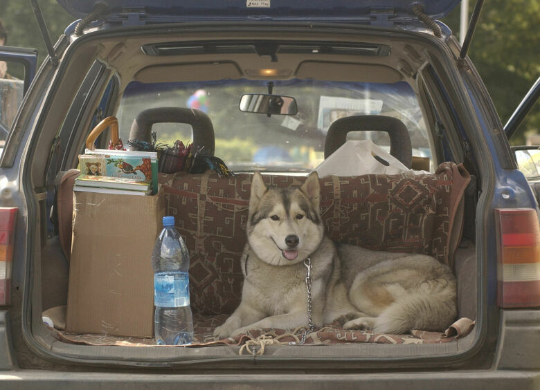
POLYGON ((246 113, 265 113, 268 115, 296 115, 298 106, 290 96, 246 93, 240 98, 240 111, 246 113))

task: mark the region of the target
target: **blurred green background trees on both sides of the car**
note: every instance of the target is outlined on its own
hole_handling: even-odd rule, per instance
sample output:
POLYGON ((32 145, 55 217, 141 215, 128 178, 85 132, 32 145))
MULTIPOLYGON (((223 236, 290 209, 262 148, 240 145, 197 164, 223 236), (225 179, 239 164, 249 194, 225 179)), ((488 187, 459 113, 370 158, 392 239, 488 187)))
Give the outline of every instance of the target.
MULTIPOLYGON (((56 41, 73 17, 55 0, 39 0, 49 35, 56 41)), ((469 15, 474 2, 469 5, 469 15)), ((443 19, 459 32, 459 6, 443 19)), ((8 30, 8 45, 39 50, 46 57, 43 39, 28 0, 0 1, 0 18, 8 30)), ((469 57, 492 95, 503 124, 537 77, 540 76, 540 0, 489 0, 484 4, 469 57)), ((512 143, 524 143, 525 133, 540 133, 540 112, 533 108, 512 143)))

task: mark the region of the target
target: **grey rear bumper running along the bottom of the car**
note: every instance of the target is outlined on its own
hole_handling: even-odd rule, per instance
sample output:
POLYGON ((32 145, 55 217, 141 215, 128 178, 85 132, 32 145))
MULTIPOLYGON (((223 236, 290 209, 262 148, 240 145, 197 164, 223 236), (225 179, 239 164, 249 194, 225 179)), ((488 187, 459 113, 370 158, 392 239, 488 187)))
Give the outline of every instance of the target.
MULTIPOLYGON (((276 384, 286 387, 307 388, 316 384, 317 387, 332 389, 334 384, 339 388, 358 388, 359 384, 366 389, 417 389, 436 388, 455 390, 456 386, 465 389, 540 389, 540 310, 501 310, 501 333, 498 335, 497 349, 489 353, 487 364, 492 362, 492 369, 470 369, 454 371, 413 371, 390 372, 386 369, 377 373, 354 373, 354 371, 339 369, 339 365, 321 366, 320 371, 307 372, 298 366, 288 366, 287 370, 264 371, 262 366, 250 369, 234 367, 217 371, 212 362, 197 364, 192 371, 186 366, 183 373, 171 373, 174 369, 159 370, 156 364, 154 373, 141 373, 142 370, 152 369, 151 363, 141 363, 141 371, 132 366, 127 370, 132 373, 102 373, 98 366, 58 366, 59 371, 47 371, 50 364, 42 365, 36 362, 26 362, 24 366, 42 367, 42 370, 17 369, 15 349, 12 346, 11 335, 7 324, 6 311, 0 310, 0 389, 107 389, 138 387, 173 388, 181 384, 186 389, 213 388, 213 385, 224 388, 238 388, 242 385, 254 386, 261 389, 275 389, 276 384), (93 373, 67 372, 75 370, 92 370, 93 373), (168 371, 165 371, 168 370, 168 371), (258 371, 259 373, 254 373, 258 371), (157 373, 156 373, 157 372, 157 373)), ((19 345, 20 346, 20 345, 19 345)), ((92 347, 96 348, 96 347, 92 347)), ((114 348, 114 347, 113 347, 114 348)), ((116 347, 121 348, 121 347, 116 347)), ((21 358, 21 356, 19 356, 21 358)), ((112 358, 109 356, 109 358, 112 358)), ((115 359, 117 359, 116 356, 115 359)), ((485 360, 485 359, 484 359, 485 360)), ((44 362, 45 363, 45 362, 44 362)), ((82 363, 82 362, 80 362, 82 363)), ((294 363, 291 363, 294 365, 294 363)), ((22 366, 22 364, 21 364, 22 366)), ((361 365, 358 365, 361 368, 361 365)), ((462 368, 466 368, 463 365, 462 368)), ((473 366, 470 366, 473 368, 473 366)), ((366 368, 366 367, 364 367, 366 368)), ((116 369, 119 370, 118 367, 116 369)), ((111 368, 112 371, 112 368, 111 368)), ((124 371, 127 372, 127 371, 124 371)))

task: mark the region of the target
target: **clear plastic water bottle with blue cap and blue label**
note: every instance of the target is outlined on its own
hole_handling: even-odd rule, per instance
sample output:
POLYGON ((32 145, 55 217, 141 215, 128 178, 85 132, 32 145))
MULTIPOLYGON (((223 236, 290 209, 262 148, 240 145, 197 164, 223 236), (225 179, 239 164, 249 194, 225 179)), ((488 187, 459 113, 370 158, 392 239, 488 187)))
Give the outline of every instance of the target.
POLYGON ((157 344, 190 344, 193 318, 190 308, 188 248, 174 228, 174 216, 163 217, 163 230, 152 252, 154 267, 154 335, 157 344))

